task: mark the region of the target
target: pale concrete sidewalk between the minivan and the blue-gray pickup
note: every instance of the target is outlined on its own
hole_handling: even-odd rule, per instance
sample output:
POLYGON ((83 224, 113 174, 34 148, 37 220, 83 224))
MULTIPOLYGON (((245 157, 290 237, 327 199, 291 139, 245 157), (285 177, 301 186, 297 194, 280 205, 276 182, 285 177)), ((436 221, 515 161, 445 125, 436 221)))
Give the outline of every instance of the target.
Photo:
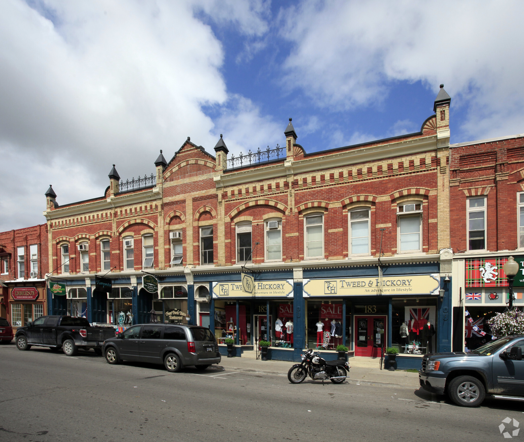
MULTIPOLYGON (((407 388, 418 388, 420 386, 418 373, 402 370, 389 371, 380 370, 379 368, 357 367, 352 365, 352 359, 353 358, 350 358, 349 360, 349 364, 352 367, 347 379, 350 383, 407 388)), ((227 357, 223 357, 220 363, 220 365, 227 370, 250 371, 278 376, 287 376, 293 364, 297 364, 297 362, 278 360, 263 361, 260 359, 227 357)))

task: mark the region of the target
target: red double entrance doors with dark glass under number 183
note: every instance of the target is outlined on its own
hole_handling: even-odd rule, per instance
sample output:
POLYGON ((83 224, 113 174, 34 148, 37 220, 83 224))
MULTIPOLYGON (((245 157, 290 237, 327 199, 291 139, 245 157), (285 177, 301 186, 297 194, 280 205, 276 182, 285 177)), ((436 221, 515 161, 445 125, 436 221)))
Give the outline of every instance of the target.
POLYGON ((355 356, 380 357, 387 316, 355 316, 355 356))

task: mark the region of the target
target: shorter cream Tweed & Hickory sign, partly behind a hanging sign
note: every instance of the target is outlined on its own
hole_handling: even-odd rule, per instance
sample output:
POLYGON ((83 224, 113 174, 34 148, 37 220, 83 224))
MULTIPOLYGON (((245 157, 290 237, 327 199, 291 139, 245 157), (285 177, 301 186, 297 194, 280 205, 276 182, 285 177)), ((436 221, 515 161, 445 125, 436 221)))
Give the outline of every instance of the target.
POLYGON ((242 281, 213 282, 213 298, 269 298, 293 296, 293 280, 254 281, 252 293, 243 290, 242 281))

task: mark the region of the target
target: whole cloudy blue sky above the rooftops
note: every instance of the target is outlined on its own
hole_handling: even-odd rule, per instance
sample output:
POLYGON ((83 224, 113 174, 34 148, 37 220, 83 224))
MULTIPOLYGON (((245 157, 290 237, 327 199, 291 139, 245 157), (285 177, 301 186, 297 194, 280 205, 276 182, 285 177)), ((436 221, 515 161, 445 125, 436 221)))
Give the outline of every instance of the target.
POLYGON ((0 2, 0 231, 210 152, 307 152, 416 132, 439 84, 452 142, 524 132, 524 3, 0 2))

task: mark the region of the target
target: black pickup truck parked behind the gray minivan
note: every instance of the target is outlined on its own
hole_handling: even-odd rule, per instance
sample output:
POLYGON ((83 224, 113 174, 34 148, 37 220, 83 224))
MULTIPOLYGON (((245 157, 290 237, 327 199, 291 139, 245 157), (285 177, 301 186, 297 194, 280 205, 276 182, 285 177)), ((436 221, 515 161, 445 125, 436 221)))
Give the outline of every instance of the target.
POLYGON ((77 354, 79 348, 92 348, 102 354, 105 339, 114 337, 112 327, 92 327, 85 318, 73 316, 40 316, 25 327, 16 331, 15 342, 19 350, 29 350, 31 346, 62 348, 67 356, 77 354))

